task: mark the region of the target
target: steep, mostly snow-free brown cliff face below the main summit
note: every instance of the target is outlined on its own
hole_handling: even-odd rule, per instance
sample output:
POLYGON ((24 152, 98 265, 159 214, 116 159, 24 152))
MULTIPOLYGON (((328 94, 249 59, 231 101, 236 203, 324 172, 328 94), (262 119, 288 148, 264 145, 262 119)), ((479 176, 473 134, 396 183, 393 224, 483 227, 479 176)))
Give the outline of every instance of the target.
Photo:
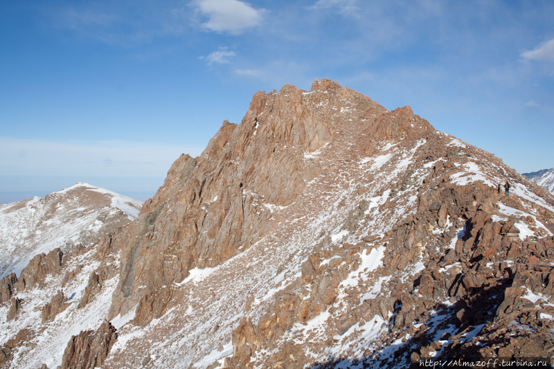
MULTIPOLYGON (((353 128, 352 119, 368 124, 348 139, 372 152, 380 141, 415 132, 413 118, 408 107, 388 113, 328 80, 314 82, 310 92, 285 85, 279 93, 256 93, 242 123, 224 122, 198 158, 181 156, 141 217, 117 236, 121 276, 109 317, 139 303, 136 323, 158 318, 173 282, 260 240, 272 227, 272 210, 292 204, 321 174, 306 156, 333 141, 350 144, 343 131, 353 128)), ((432 130, 416 121, 418 135, 432 130)))

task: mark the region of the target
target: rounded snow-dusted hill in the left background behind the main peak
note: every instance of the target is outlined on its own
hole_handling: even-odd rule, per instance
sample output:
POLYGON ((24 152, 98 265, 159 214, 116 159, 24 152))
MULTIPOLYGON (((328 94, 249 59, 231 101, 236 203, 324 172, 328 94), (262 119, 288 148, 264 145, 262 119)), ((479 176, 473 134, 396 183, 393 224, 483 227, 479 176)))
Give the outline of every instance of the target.
POLYGON ((35 255, 75 244, 90 246, 101 235, 135 219, 142 203, 87 183, 0 205, 0 277, 17 276, 35 255))

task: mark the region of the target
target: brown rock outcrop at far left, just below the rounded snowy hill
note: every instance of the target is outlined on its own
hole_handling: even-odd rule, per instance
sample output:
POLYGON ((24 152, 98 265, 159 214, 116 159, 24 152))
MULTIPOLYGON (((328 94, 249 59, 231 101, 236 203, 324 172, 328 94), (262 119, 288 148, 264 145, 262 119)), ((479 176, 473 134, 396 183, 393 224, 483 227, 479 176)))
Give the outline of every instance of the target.
POLYGON ((63 256, 64 253, 59 248, 50 251, 48 254, 36 255, 21 271, 21 276, 17 281, 19 290, 43 287, 44 279, 48 274, 56 274, 62 269, 63 256))

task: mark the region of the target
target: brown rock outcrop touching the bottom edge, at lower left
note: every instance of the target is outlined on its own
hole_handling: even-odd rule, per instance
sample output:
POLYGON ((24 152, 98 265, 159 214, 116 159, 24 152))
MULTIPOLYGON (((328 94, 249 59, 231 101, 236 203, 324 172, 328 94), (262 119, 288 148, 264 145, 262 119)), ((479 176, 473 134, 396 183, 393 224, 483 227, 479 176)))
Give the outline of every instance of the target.
POLYGON ((60 369, 93 369, 102 366, 116 339, 116 328, 107 321, 96 331, 84 331, 72 336, 60 369))

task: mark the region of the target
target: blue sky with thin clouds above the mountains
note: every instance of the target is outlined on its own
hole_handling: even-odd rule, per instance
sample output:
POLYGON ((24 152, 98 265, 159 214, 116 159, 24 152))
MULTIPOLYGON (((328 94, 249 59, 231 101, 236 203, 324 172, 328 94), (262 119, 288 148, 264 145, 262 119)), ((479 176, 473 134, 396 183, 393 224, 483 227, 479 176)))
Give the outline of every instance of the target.
POLYGON ((315 78, 552 168, 553 19, 553 1, 2 1, 0 203, 78 181, 143 200, 253 93, 315 78))

